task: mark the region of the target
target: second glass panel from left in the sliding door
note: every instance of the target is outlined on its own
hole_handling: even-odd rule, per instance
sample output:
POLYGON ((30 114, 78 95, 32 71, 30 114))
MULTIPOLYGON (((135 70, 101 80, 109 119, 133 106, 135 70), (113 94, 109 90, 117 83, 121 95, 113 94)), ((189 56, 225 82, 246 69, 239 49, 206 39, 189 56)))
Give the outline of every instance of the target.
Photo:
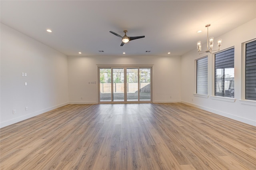
POLYGON ((113 101, 124 101, 124 69, 113 70, 113 101))

